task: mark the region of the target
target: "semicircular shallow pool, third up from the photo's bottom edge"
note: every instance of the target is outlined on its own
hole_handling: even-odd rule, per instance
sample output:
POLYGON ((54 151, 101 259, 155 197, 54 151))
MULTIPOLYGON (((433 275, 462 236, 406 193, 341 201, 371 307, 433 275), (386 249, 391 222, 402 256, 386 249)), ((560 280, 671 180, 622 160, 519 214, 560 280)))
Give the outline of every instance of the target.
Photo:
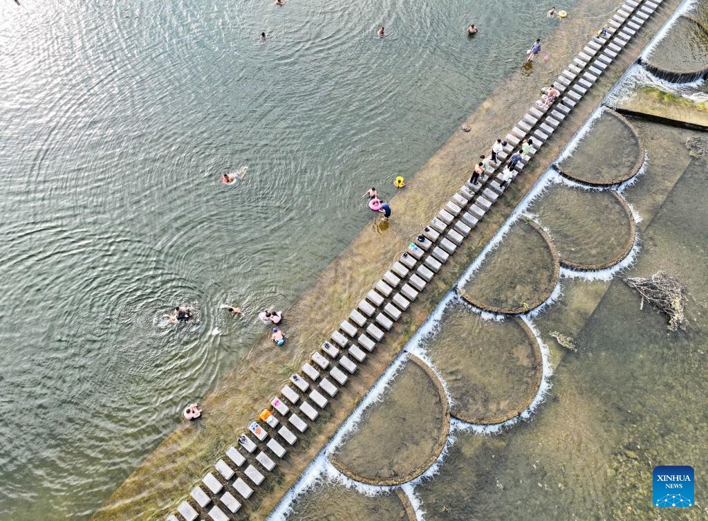
POLYGON ((515 418, 541 385, 540 346, 517 317, 484 320, 453 302, 425 349, 450 393, 450 412, 460 420, 493 425, 515 418))

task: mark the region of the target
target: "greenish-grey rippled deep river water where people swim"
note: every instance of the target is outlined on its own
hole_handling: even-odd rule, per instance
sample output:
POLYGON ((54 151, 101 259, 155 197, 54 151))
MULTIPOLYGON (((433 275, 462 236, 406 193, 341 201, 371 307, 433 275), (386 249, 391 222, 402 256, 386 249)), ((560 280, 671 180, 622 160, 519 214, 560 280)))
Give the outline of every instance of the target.
POLYGON ((530 0, 21 4, 0 5, 13 521, 90 515, 263 333, 258 310, 371 220, 359 195, 391 196, 556 23, 530 0), (181 304, 198 320, 166 323, 181 304))

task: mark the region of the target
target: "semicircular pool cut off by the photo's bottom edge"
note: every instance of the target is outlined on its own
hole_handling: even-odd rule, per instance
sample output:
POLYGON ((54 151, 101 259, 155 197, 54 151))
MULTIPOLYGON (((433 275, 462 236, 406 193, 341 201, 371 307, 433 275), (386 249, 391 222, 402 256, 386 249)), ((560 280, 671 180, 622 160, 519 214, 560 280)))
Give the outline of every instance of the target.
POLYGON ((375 496, 360 494, 338 483, 319 483, 292 503, 288 521, 416 521, 408 497, 402 491, 375 496))

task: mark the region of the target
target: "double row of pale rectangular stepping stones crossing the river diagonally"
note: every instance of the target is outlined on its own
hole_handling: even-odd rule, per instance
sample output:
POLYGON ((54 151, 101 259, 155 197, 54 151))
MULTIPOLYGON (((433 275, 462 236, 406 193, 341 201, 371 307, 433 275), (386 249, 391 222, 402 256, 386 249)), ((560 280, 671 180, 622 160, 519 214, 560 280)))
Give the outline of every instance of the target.
MULTIPOLYGON (((533 137, 536 148, 542 147, 551 139, 554 131, 563 124, 565 116, 582 101, 607 65, 622 52, 627 42, 662 1, 625 1, 609 21, 607 37, 590 40, 558 79, 554 80, 556 85, 561 87, 559 90, 562 89, 558 99, 549 107, 542 106, 541 102, 532 106, 521 118, 523 125, 515 127, 506 136, 509 145, 500 153, 499 158, 502 161, 506 159, 526 138, 533 137)), ((526 164, 527 160, 518 162, 516 173, 526 164)), ((445 203, 430 224, 421 230, 423 240, 413 237, 411 243, 416 249, 407 249, 406 253, 409 254, 405 257, 405 262, 401 257, 393 264, 391 271, 382 276, 379 283, 386 286, 377 284, 375 289, 372 288, 360 301, 357 309, 350 313, 346 324, 341 323, 339 330, 333 332, 333 342, 325 342, 319 347, 322 354, 318 351, 312 355, 313 363, 309 364, 309 369, 303 369, 302 374, 293 375, 290 383, 282 387, 280 392, 292 407, 300 403, 297 413, 292 412, 292 407, 286 405, 280 396, 275 396, 270 401, 270 408, 259 415, 260 421, 239 435, 239 443, 229 448, 226 457, 219 459, 214 474, 207 474, 205 481, 193 488, 186 499, 176 507, 177 515, 170 515, 167 517, 168 521, 225 521, 240 518, 241 507, 248 502, 251 495, 259 494, 263 482, 270 478, 270 474, 278 471, 278 461, 287 459, 288 451, 297 448, 299 434, 294 434, 290 427, 298 433, 309 428, 310 424, 303 420, 300 414, 308 418, 312 425, 316 425, 319 420, 320 415, 309 400, 319 407, 320 403, 325 404, 326 401, 320 400, 320 397, 334 398, 341 388, 346 387, 349 381, 346 373, 353 375, 358 364, 365 364, 367 354, 375 351, 377 342, 385 339, 389 323, 382 321, 382 318, 389 318, 394 322, 401 318, 418 296, 418 292, 424 291, 425 286, 421 281, 426 281, 427 284, 433 279, 450 255, 455 254, 464 237, 469 235, 496 203, 501 193, 501 169, 502 164, 498 162, 480 178, 479 184, 464 184, 457 194, 445 203), (327 376, 336 383, 326 376, 318 377, 315 374, 321 372, 318 367, 323 371, 326 369, 327 376), (317 393, 312 396, 312 391, 317 393), (272 420, 267 422, 263 417, 272 420), (272 423, 275 426, 271 425, 272 423), (278 425, 280 428, 276 430, 278 425), (283 447, 289 448, 286 451, 283 447), (234 474, 230 474, 226 467, 234 474)), ((392 327, 395 330, 393 325, 392 327)), ((263 491, 260 493, 263 494, 263 491)), ((258 500, 260 501, 261 499, 258 500)))

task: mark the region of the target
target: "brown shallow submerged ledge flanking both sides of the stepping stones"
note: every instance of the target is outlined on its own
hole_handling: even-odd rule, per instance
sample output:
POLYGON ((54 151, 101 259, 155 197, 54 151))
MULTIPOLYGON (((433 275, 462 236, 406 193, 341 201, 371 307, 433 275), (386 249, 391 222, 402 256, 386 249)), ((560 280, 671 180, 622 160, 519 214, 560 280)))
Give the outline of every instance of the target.
MULTIPOLYGON (((666 1, 663 11, 650 18, 646 30, 636 35, 626 52, 588 93, 586 101, 566 119, 554 139, 539 152, 447 267, 428 285, 411 311, 396 324, 377 348, 375 356, 362 367, 358 378, 343 389, 341 398, 338 398, 341 403, 338 412, 331 415, 329 421, 313 425, 309 435, 298 442, 299 447, 290 452, 278 472, 265 481, 254 495, 253 508, 246 510, 250 519, 265 517, 278 502, 677 5, 678 0, 666 1)), ((165 517, 178 499, 184 497, 215 463, 219 454, 234 442, 236 435, 244 430, 258 410, 267 404, 287 374, 299 367, 312 349, 329 336, 339 320, 348 315, 396 255, 404 250, 411 237, 464 182, 474 159, 486 151, 491 140, 506 134, 535 100, 537 89, 561 71, 577 48, 617 6, 616 1, 581 1, 576 11, 582 16, 571 16, 549 38, 552 44, 548 46, 548 62, 535 65, 537 69, 531 74, 513 74, 484 101, 467 120, 472 132, 453 134, 409 182, 406 190, 392 200, 394 220, 387 230, 380 230, 373 224, 365 228, 327 267, 312 289, 292 306, 287 320, 290 335, 287 349, 275 351, 267 339, 255 344, 243 362, 201 400, 206 410, 203 420, 197 425, 179 425, 115 491, 93 519, 152 520, 165 517)))

